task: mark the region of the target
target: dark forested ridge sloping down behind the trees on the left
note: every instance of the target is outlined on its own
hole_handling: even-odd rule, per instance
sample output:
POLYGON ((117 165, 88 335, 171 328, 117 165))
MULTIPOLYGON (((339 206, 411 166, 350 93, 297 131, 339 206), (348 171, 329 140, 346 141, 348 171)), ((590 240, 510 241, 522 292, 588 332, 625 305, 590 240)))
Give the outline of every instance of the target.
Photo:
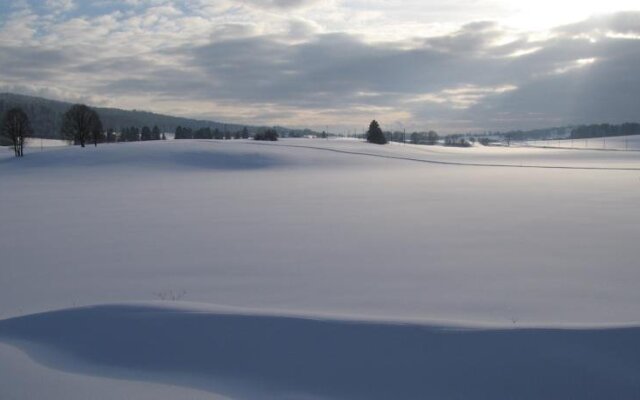
MULTIPOLYGON (((73 103, 50 100, 43 97, 28 96, 16 93, 0 93, 0 115, 12 107, 21 107, 25 110, 34 130, 35 137, 57 139, 60 137, 60 125, 62 115, 73 103)), ((91 104, 88 104, 91 106, 91 104)), ((153 127, 157 125, 163 132, 174 132, 177 126, 191 129, 206 128, 238 131, 245 126, 250 132, 260 129, 259 126, 225 124, 217 121, 199 120, 184 117, 174 117, 164 114, 156 114, 149 111, 122 110, 118 108, 93 107, 102 120, 105 129, 113 128, 116 131, 125 127, 153 127)), ((296 130, 284 127, 275 127, 281 135, 313 134, 310 130, 296 130)))

